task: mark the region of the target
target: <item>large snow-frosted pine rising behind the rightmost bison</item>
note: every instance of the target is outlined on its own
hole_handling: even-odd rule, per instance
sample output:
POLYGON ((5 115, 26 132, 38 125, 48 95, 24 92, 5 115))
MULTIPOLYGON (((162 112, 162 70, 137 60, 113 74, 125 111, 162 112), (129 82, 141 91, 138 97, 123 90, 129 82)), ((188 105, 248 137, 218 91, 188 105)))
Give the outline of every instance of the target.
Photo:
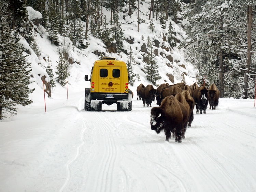
POLYGON ((186 31, 191 39, 182 44, 187 49, 188 57, 195 58, 193 63, 200 69, 199 76, 202 77, 208 72, 208 80, 211 77, 218 77, 210 83, 217 82, 221 97, 224 97, 228 92, 224 89, 228 86, 225 82, 225 73, 233 68, 229 62, 231 59, 234 61, 233 64, 241 60, 237 46, 241 45, 242 39, 237 36, 238 30, 233 25, 236 17, 232 14, 232 2, 204 2, 202 5, 202 2, 196 1, 187 7, 190 11, 185 11, 189 21, 186 31), (191 12, 195 15, 191 15, 191 12))

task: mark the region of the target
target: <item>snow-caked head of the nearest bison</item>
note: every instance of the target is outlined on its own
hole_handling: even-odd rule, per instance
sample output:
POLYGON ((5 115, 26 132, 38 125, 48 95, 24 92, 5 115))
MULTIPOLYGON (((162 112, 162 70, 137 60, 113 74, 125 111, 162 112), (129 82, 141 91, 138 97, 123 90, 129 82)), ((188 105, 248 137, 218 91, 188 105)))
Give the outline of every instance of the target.
POLYGON ((163 119, 165 112, 160 107, 153 107, 150 114, 151 130, 156 131, 157 134, 163 129, 163 119))

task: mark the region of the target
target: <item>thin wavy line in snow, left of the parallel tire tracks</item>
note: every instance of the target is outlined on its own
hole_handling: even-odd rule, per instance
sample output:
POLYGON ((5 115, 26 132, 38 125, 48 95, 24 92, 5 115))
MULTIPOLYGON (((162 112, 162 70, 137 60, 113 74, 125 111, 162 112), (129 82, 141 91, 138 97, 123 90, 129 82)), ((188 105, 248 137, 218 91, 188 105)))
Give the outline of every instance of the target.
MULTIPOLYGON (((83 118, 82 120, 83 122, 85 122, 85 118, 83 118)), ((85 130, 87 129, 87 127, 84 127, 84 124, 83 123, 83 126, 82 126, 82 132, 81 132, 81 141, 82 143, 77 147, 76 149, 76 156, 71 159, 69 161, 69 163, 67 164, 67 178, 66 178, 66 181, 65 183, 63 184, 63 186, 61 187, 60 189, 60 192, 62 192, 63 190, 65 190, 65 188, 67 187, 69 181, 70 181, 70 178, 71 178, 71 169, 70 169, 70 165, 80 156, 80 147, 84 145, 85 141, 84 141, 84 138, 83 138, 83 135, 84 135, 84 132, 85 130)))

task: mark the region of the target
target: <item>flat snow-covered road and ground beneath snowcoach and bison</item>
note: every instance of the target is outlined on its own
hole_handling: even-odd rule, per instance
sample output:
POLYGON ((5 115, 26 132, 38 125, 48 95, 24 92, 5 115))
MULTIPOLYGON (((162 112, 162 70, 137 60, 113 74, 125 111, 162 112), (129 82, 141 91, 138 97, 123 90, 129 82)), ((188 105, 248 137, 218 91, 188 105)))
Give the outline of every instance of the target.
MULTIPOLYGON (((0 123, 1 192, 254 192, 254 100, 220 99, 182 143, 150 129, 150 107, 84 110, 84 91, 19 107, 0 123)), ((157 106, 156 102, 152 106, 157 106)), ((194 109, 195 110, 195 109, 194 109)))

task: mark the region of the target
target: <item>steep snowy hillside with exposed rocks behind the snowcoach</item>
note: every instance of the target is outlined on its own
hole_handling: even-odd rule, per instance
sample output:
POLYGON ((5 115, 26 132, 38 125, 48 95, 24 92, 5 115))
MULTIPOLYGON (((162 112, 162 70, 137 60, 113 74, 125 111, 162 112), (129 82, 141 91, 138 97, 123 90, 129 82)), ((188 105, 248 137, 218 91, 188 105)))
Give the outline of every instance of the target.
MULTIPOLYGON (((130 47, 132 48, 136 62, 136 64, 133 66, 133 72, 134 74, 139 74, 140 76, 140 81, 138 81, 138 79, 136 78, 134 86, 130 86, 130 88, 136 88, 140 83, 143 83, 145 86, 147 84, 152 84, 151 82, 146 80, 146 74, 144 72, 145 63, 143 62, 143 54, 145 52, 142 51, 142 46, 147 45, 147 37, 150 37, 154 49, 158 50, 156 51, 156 58, 157 64, 159 66, 159 74, 161 75, 161 80, 159 80, 157 84, 160 85, 161 83, 165 82, 173 84, 182 81, 189 85, 193 84, 196 81, 196 70, 194 70, 191 64, 185 62, 183 58, 184 56, 180 50, 178 50, 176 47, 174 47, 174 49, 171 49, 168 46, 168 43, 164 41, 170 22, 173 25, 173 30, 176 32, 176 38, 179 40, 182 40, 186 36, 182 30, 182 27, 175 24, 174 21, 168 20, 166 23, 166 29, 162 29, 160 22, 154 20, 155 31, 150 33, 150 30, 148 29, 150 23, 150 20, 148 20, 149 4, 150 1, 148 0, 143 2, 143 4, 140 4, 140 17, 141 19, 144 19, 146 21, 146 23, 142 23, 140 25, 140 32, 137 31, 136 14, 133 14, 131 18, 126 17, 125 20, 121 15, 119 16, 120 23, 122 23, 122 28, 124 30, 124 37, 125 39, 127 39, 127 41, 129 41, 129 43, 127 41, 123 41, 123 50, 126 52, 129 50, 130 47)), ((29 13, 29 18, 31 20, 42 17, 41 14, 33 10, 32 7, 28 7, 27 10, 29 13)), ((109 15, 108 11, 104 11, 105 15, 109 15)), ((36 28, 35 34, 37 35, 36 42, 39 50, 41 51, 40 58, 35 55, 35 53, 28 46, 26 41, 22 41, 24 47, 31 53, 31 55, 29 55, 28 57, 28 61, 32 64, 30 88, 35 88, 35 91, 31 94, 31 98, 33 99, 38 98, 34 97, 34 95, 42 94, 42 76, 46 76, 45 81, 49 80, 49 76, 46 73, 46 67, 49 63, 48 57, 51 60, 50 64, 55 74, 55 72, 57 71, 56 67, 59 60, 60 52, 63 52, 63 49, 68 52, 68 59, 72 63, 70 65, 70 77, 67 79, 69 82, 68 89, 72 91, 81 91, 84 90, 85 87, 89 86, 89 83, 84 81, 84 75, 90 75, 90 70, 94 61, 99 59, 99 56, 95 55, 94 53, 104 53, 105 56, 115 57, 117 60, 123 60, 127 62, 127 55, 124 52, 121 52, 120 55, 109 53, 103 42, 99 39, 92 37, 91 35, 89 35, 87 39, 89 43, 88 48, 81 51, 76 47, 72 46, 72 42, 67 37, 59 37, 59 46, 52 45, 47 39, 48 33, 45 32, 42 26, 34 27, 36 28)), ((56 81, 56 79, 54 79, 54 81, 56 81)), ((64 97, 66 93, 66 86, 61 87, 58 83, 56 83, 56 85, 57 86, 54 88, 51 94, 51 99, 58 99, 57 95, 59 95, 59 93, 63 93, 64 97), (56 93, 58 94, 56 95, 56 93)))

